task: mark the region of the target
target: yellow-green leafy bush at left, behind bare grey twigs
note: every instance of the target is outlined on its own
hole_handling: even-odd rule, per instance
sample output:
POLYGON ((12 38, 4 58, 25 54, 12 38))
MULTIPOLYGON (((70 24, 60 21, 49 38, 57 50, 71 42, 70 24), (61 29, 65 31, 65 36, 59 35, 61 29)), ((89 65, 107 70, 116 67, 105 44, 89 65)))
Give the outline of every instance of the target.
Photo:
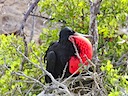
MULTIPOLYGON (((32 42, 28 45, 28 58, 35 64, 39 64, 37 57, 42 54, 42 48, 32 42)), ((23 96, 34 84, 33 80, 15 74, 15 72, 21 72, 19 69, 23 59, 23 56, 17 50, 24 53, 24 42, 21 37, 16 37, 13 34, 9 36, 0 35, 0 95, 2 96, 14 94, 23 96)), ((42 76, 42 72, 30 62, 24 64, 22 72, 35 79, 42 76)), ((42 78, 40 80, 44 82, 42 78)), ((34 88, 40 88, 40 86, 36 84, 34 88)), ((30 93, 32 92, 30 91, 30 93)))

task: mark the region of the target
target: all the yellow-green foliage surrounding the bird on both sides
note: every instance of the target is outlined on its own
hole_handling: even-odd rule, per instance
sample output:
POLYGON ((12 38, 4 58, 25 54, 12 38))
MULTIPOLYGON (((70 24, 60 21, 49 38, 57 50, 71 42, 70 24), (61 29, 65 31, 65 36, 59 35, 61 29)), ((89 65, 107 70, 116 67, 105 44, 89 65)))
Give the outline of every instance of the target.
MULTIPOLYGON (((28 58, 36 64, 39 64, 37 57, 44 54, 49 43, 58 39, 60 27, 51 29, 58 22, 61 27, 69 26, 77 32, 88 34, 90 21, 88 0, 41 0, 38 5, 41 7, 41 12, 47 13, 52 20, 48 22, 49 27, 43 28, 40 35, 42 44, 29 43, 28 58)), ((100 71, 104 73, 104 86, 109 96, 128 94, 128 56, 118 62, 128 52, 128 35, 120 30, 128 26, 127 6, 127 0, 103 0, 97 18, 100 71)), ((0 36, 0 95, 24 96, 29 94, 29 96, 34 96, 43 90, 42 87, 34 84, 30 78, 13 74, 20 71, 19 67, 23 58, 17 52, 17 48, 24 53, 22 38, 13 34, 0 36), (32 90, 28 91, 31 88, 32 90)), ((22 72, 35 79, 40 78, 39 81, 44 83, 44 74, 31 63, 26 62, 22 72)))

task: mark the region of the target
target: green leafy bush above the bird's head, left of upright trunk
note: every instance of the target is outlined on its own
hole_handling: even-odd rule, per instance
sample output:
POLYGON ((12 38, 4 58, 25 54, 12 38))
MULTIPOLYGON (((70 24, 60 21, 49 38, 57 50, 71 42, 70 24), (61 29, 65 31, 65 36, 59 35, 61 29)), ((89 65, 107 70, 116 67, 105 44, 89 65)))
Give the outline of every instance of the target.
POLYGON ((89 26, 89 3, 85 0, 41 0, 41 12, 54 18, 53 22, 61 21, 64 26, 87 33, 89 26))

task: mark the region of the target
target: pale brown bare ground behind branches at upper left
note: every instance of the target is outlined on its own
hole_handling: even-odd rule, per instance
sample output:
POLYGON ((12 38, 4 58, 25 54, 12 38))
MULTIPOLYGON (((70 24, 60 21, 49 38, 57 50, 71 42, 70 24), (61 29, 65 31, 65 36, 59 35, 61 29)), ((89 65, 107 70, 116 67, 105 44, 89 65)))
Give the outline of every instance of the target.
MULTIPOLYGON (((34 0, 33 0, 34 1, 34 0)), ((32 0, 0 0, 0 34, 15 32, 21 26, 24 14, 27 12, 32 0)), ((35 11, 39 13, 39 8, 35 11)), ((33 40, 38 41, 42 28, 46 27, 45 20, 29 16, 24 32, 27 41, 30 39, 31 31, 34 30, 33 40), (34 20, 34 23, 33 23, 34 20), (32 26, 34 24, 34 28, 32 26)))

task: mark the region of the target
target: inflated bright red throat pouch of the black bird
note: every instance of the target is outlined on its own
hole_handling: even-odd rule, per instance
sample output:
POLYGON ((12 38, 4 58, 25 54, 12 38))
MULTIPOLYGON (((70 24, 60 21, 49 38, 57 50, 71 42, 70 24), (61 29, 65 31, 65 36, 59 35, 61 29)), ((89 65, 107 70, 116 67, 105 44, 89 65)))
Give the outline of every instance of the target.
MULTIPOLYGON (((83 36, 72 35, 69 37, 69 40, 76 46, 79 56, 81 57, 82 62, 77 56, 72 56, 69 60, 69 72, 73 74, 79 68, 79 64, 88 65, 86 56, 88 59, 92 59, 93 49, 91 42, 83 36), (86 56, 85 56, 86 55, 86 56)), ((79 71, 77 72, 77 74, 79 71)))

